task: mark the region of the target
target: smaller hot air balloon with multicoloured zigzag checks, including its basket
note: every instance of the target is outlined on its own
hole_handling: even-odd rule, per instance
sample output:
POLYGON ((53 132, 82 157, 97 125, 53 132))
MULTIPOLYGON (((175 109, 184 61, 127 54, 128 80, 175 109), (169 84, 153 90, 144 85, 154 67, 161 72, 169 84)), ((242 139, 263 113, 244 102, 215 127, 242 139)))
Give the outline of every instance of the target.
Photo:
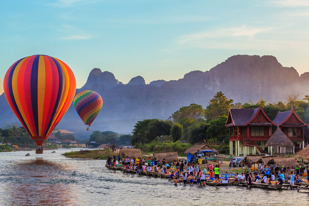
MULTIPOLYGON (((86 90, 79 92, 75 96, 73 102, 77 114, 83 122, 90 127, 102 108, 102 97, 95 91, 86 90)), ((89 130, 89 128, 87 128, 87 130, 89 130)))

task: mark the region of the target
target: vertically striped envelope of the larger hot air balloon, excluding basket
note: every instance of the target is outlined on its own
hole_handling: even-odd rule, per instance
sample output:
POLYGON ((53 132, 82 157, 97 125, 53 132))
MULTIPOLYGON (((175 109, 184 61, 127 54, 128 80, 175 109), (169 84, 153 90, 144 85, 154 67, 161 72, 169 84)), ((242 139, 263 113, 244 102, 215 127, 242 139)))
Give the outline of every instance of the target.
POLYGON ((16 61, 7 70, 3 87, 13 112, 40 146, 70 107, 76 82, 63 61, 33 55, 16 61))

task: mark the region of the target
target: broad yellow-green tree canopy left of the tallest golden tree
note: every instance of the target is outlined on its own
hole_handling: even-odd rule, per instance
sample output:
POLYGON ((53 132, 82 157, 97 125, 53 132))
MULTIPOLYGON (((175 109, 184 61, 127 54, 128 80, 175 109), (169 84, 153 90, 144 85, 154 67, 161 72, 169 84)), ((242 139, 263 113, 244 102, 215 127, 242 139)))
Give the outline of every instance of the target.
POLYGON ((181 107, 179 110, 174 112, 171 116, 174 122, 180 123, 184 118, 192 118, 195 121, 203 119, 205 110, 203 106, 198 104, 190 104, 187 107, 181 107))

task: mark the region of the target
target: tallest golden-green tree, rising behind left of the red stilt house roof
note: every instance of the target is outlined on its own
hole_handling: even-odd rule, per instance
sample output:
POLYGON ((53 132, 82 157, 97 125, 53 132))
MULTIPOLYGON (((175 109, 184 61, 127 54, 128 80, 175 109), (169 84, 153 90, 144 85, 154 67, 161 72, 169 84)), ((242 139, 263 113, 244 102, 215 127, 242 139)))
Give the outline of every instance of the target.
POLYGON ((230 107, 234 106, 233 102, 233 99, 227 99, 221 91, 217 92, 206 107, 205 118, 210 121, 218 116, 228 115, 230 107))

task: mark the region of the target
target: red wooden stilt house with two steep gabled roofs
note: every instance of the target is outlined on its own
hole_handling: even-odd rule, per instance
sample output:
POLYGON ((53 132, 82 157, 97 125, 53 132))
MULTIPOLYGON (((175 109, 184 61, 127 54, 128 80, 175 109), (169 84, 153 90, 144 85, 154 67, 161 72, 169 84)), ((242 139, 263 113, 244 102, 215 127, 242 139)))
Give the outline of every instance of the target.
POLYGON ((236 156, 261 154, 265 149, 269 153, 273 151, 275 153, 294 153, 303 149, 308 143, 305 142, 305 139, 309 139, 308 124, 299 119, 294 109, 278 112, 273 121, 265 114, 262 107, 256 109, 230 109, 225 126, 229 128, 230 154, 236 156), (277 132, 272 139, 280 141, 281 138, 282 141, 288 142, 288 144, 283 144, 281 147, 280 144, 270 144, 270 142, 273 142, 270 141, 266 146, 266 142, 276 129, 280 129, 282 132, 277 132), (287 138, 283 137, 284 135, 287 138), (291 142, 293 145, 291 145, 291 142), (299 149, 297 147, 298 143, 299 149), (274 148, 274 145, 276 145, 276 148, 274 148))

